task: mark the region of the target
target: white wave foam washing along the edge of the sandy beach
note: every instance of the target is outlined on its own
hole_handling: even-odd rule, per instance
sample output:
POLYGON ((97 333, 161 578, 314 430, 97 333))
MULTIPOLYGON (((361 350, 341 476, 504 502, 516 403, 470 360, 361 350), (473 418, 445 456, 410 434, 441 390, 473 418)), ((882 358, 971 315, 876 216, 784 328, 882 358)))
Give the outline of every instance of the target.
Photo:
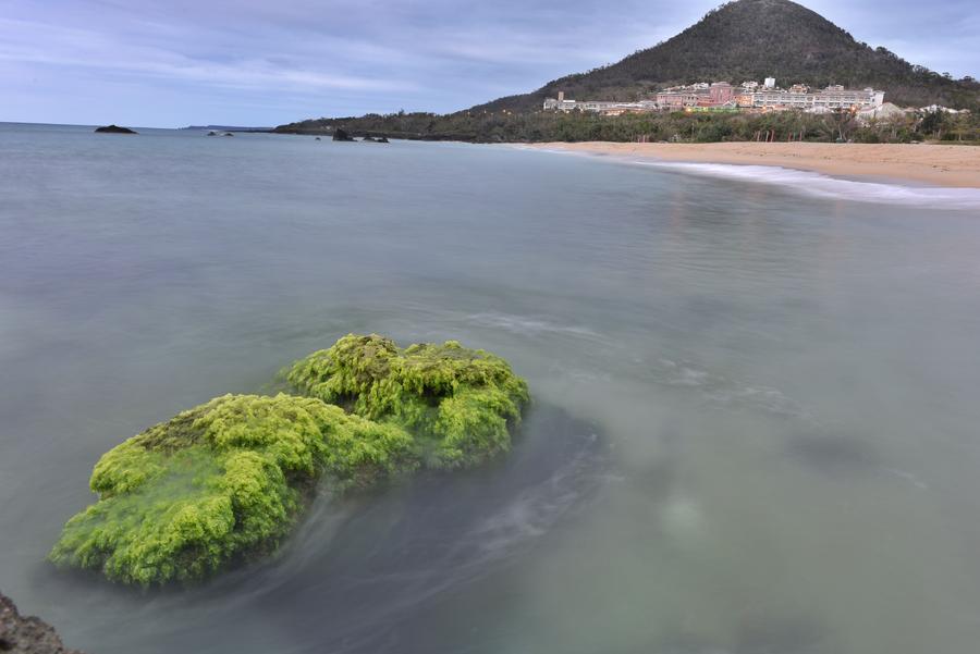
POLYGON ((980 210, 980 188, 906 186, 885 182, 859 182, 773 165, 682 163, 649 160, 633 161, 633 163, 695 175, 781 186, 804 195, 823 198, 929 207, 932 209, 980 210))

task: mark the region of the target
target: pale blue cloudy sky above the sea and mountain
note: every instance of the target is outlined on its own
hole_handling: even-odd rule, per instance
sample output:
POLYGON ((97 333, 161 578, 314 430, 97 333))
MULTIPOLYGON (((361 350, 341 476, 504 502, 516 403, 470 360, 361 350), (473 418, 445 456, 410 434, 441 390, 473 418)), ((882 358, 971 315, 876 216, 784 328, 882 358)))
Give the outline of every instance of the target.
MULTIPOLYGON (((448 112, 614 63, 718 0, 0 0, 0 121, 269 126, 448 112)), ((858 40, 980 77, 975 0, 811 0, 858 40)))

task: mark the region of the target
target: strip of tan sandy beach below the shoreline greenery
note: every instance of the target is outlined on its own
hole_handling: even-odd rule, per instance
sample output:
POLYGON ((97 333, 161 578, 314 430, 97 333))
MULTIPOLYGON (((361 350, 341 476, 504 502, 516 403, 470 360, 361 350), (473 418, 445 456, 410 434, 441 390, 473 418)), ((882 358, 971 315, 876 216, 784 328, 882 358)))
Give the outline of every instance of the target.
POLYGON ((819 143, 550 143, 532 147, 659 161, 777 165, 837 176, 980 188, 980 147, 819 143))

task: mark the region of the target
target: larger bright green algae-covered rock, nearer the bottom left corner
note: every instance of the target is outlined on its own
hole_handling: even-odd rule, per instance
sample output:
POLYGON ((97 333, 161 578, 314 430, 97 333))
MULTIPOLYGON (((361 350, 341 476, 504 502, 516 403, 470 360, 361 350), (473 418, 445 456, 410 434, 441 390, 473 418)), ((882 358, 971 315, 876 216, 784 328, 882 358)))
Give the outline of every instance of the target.
POLYGON ((323 472, 368 483, 416 466, 404 431, 309 397, 225 395, 106 453, 99 501, 50 558, 143 585, 189 581, 269 552, 323 472))

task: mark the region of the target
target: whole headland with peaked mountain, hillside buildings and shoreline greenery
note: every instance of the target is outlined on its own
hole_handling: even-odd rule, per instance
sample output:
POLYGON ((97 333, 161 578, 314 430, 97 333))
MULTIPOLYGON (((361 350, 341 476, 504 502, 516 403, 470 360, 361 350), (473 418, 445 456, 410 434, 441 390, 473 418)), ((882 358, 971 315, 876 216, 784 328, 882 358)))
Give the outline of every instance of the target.
POLYGON ((321 118, 274 132, 335 129, 473 143, 980 143, 980 83, 859 42, 789 0, 737 0, 652 48, 528 94, 449 114, 321 118))

